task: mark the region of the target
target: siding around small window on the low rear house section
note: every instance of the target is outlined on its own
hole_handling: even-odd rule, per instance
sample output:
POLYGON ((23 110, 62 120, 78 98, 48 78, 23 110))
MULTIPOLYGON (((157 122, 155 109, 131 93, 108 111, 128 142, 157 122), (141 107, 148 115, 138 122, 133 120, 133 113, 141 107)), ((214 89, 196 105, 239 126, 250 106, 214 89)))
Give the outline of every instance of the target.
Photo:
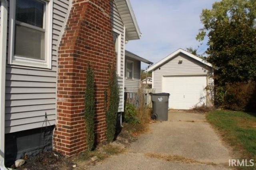
POLYGON ((125 57, 125 78, 124 78, 124 88, 125 92, 138 92, 140 88, 140 61, 134 60, 130 57, 125 57), (126 60, 133 61, 133 79, 126 78, 126 60))

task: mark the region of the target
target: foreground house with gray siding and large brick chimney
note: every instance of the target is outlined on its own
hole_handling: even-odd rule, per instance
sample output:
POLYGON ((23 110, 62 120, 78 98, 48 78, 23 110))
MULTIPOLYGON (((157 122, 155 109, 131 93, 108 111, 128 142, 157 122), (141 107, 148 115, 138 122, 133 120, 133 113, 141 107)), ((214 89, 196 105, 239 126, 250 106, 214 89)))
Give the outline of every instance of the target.
POLYGON ((52 140, 67 156, 86 150, 88 64, 96 82, 96 142, 106 140, 108 65, 116 65, 123 112, 124 43, 141 35, 130 1, 0 2, 0 168, 52 148, 52 140))

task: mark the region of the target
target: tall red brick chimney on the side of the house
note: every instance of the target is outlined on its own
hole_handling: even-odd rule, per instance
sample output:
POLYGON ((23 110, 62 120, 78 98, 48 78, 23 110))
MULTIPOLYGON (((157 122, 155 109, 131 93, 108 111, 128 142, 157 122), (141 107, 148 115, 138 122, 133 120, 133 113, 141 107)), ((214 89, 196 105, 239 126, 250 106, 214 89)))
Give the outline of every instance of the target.
POLYGON ((86 150, 84 91, 88 61, 96 85, 95 132, 106 140, 104 90, 108 64, 116 63, 110 22, 110 0, 74 0, 58 49, 58 101, 54 148, 67 156, 86 150))

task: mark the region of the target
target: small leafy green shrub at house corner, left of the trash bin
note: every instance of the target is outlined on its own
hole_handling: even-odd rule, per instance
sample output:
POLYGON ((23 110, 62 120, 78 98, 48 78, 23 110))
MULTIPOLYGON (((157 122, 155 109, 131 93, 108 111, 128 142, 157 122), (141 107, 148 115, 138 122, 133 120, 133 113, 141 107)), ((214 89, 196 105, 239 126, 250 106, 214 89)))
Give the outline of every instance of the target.
POLYGON ((134 105, 130 103, 126 103, 125 109, 124 109, 124 121, 126 123, 140 123, 140 121, 136 118, 137 115, 137 109, 134 105))

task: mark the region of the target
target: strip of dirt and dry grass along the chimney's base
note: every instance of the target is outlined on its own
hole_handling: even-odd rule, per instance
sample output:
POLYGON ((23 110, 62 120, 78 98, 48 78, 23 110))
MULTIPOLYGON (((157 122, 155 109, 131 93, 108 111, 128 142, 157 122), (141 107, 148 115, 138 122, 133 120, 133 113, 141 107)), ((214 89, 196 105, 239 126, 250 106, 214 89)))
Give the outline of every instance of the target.
MULTIPOLYGON (((48 151, 38 154, 38 156, 24 156, 26 163, 17 170, 83 170, 94 166, 97 162, 104 160, 110 155, 120 154, 126 151, 130 144, 137 140, 131 132, 123 129, 116 140, 109 144, 99 144, 91 152, 83 152, 78 155, 67 157, 58 152, 48 151), (98 160, 91 158, 97 156, 98 160)), ((15 169, 14 164, 10 167, 15 169)))

